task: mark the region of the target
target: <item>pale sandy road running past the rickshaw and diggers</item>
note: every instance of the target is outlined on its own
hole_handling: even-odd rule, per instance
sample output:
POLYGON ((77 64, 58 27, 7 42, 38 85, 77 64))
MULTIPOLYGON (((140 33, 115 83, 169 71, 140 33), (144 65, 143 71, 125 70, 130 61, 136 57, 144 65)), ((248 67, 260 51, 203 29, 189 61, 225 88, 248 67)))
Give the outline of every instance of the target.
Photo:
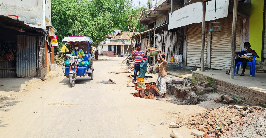
POLYGON ((126 87, 125 75, 130 73, 108 73, 126 70, 124 65, 120 67, 121 61, 121 57, 94 61, 94 80, 77 78, 73 88, 60 67, 51 72, 57 75, 50 80, 22 84, 23 92, 1 91, 0 87, 1 96, 11 95, 1 101, 0 137, 161 138, 170 137, 172 131, 193 137, 191 129, 168 125, 205 109, 133 97, 134 88, 126 87), (117 84, 97 83, 109 78, 117 84))

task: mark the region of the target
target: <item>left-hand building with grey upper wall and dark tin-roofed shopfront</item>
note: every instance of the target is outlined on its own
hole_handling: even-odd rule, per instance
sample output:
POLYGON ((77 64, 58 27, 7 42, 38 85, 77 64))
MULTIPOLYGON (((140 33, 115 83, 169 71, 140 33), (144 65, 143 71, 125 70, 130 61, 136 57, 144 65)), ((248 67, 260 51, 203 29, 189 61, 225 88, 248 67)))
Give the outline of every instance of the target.
POLYGON ((55 67, 50 0, 2 0, 0 77, 42 77, 55 67))

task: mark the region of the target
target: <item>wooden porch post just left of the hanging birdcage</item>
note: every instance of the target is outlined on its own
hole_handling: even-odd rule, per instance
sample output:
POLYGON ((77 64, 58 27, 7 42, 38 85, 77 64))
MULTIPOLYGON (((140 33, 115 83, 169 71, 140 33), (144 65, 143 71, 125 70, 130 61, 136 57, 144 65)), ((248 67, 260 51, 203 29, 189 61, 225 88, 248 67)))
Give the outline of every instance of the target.
POLYGON ((201 35, 201 69, 204 71, 204 48, 205 48, 205 21, 206 21, 206 1, 202 2, 202 35, 201 35))

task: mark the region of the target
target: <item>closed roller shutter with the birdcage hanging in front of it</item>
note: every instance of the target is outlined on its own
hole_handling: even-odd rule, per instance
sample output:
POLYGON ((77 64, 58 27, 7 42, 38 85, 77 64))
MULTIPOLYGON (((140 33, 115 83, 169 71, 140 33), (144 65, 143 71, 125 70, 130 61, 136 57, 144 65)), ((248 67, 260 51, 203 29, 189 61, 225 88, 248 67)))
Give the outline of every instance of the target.
MULTIPOLYGON (((229 69, 231 66, 233 16, 228 15, 228 17, 219 20, 221 21, 221 32, 212 33, 211 68, 229 69)), ((241 17, 238 16, 236 22, 236 51, 240 51, 241 22, 241 17)))

